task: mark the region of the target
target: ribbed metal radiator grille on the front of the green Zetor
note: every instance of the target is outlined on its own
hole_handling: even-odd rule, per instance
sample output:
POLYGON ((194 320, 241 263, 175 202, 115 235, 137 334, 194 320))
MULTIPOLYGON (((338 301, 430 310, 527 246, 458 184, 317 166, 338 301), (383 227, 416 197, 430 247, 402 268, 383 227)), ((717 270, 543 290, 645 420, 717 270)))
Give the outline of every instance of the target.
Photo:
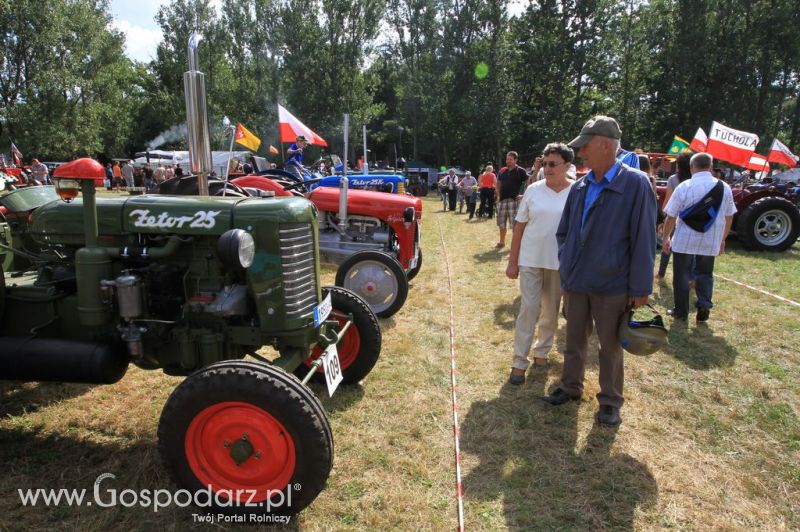
POLYGON ((281 224, 283 290, 286 316, 298 318, 313 311, 317 304, 317 272, 314 260, 314 235, 311 224, 281 224))

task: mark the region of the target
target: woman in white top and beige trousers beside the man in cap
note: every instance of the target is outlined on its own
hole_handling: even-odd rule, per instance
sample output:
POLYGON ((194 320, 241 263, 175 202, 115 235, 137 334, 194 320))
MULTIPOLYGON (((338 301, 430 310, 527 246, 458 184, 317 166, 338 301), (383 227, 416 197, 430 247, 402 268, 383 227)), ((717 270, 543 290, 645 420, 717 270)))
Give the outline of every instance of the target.
POLYGON ((544 179, 525 190, 517 210, 506 268, 509 279, 519 278, 522 296, 514 330, 511 384, 525 382, 525 371, 530 365, 528 353, 537 323, 539 334, 533 348, 534 365, 546 367, 547 354, 553 347, 561 301, 556 229, 573 183, 567 175, 573 158, 574 153, 566 144, 548 144, 542 160, 544 179))

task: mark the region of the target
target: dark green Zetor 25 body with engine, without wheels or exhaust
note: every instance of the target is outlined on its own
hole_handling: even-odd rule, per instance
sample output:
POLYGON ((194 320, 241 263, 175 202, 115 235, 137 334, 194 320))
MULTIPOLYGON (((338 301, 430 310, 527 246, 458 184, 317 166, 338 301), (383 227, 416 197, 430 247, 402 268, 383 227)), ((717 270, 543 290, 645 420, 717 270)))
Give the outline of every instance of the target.
POLYGON ((40 338, 119 342, 122 324, 108 282, 123 275, 140 281, 135 318, 143 349, 133 362, 142 367, 187 374, 272 345, 283 355, 276 363, 292 371, 324 333, 314 327, 322 295, 317 220, 308 201, 130 196, 98 198, 96 206, 93 248, 84 247, 80 199, 33 211, 19 238, 52 262, 9 281, 0 335, 36 331, 40 338), (247 269, 218 257, 218 241, 231 229, 253 237, 247 269), (219 297, 230 302, 214 304, 219 297))

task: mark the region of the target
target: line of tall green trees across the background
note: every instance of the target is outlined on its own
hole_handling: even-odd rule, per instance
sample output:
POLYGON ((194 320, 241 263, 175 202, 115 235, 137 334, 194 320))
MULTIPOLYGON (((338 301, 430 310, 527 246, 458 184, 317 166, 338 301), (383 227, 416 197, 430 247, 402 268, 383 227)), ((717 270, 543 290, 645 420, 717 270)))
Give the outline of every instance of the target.
MULTIPOLYGON (((615 116, 665 151, 712 120, 800 151, 800 10, 791 0, 172 0, 156 58, 128 59, 105 0, 0 1, 0 146, 128 157, 185 122, 186 43, 203 35, 214 149, 222 117, 278 145, 277 103, 341 151, 475 168, 532 159, 615 116), (358 128, 351 146, 359 146, 358 128)), ((161 148, 183 148, 178 135, 161 148)))

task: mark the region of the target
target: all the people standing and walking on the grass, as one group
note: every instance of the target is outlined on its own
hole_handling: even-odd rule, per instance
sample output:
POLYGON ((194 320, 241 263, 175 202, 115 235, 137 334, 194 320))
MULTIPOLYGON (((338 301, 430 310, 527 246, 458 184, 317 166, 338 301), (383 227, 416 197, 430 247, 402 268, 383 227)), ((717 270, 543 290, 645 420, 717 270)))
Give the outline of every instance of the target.
POLYGON ((512 229, 506 276, 519 279, 521 297, 509 383, 523 384, 531 366, 547 367, 561 310, 566 318, 563 370, 558 385, 542 399, 558 406, 581 398, 588 339, 595 330, 598 421, 611 426, 620 423, 624 403, 620 323, 631 309, 648 305, 654 280, 663 281, 670 256, 674 308, 667 314, 673 326, 688 320, 692 278, 696 320, 707 321, 714 259, 725 250, 735 213, 730 187, 711 173, 710 155, 679 158, 662 204, 649 159, 623 150, 621 139, 616 120, 596 116, 569 143, 548 144, 530 176, 512 151, 497 175, 487 165, 477 179, 468 172, 459 178, 451 170, 439 181, 445 210, 454 211, 463 201, 471 219, 480 198, 478 215, 497 219, 497 248, 506 245, 512 229), (576 155, 588 169, 579 179, 576 155), (654 276, 657 236, 662 255, 654 276))

